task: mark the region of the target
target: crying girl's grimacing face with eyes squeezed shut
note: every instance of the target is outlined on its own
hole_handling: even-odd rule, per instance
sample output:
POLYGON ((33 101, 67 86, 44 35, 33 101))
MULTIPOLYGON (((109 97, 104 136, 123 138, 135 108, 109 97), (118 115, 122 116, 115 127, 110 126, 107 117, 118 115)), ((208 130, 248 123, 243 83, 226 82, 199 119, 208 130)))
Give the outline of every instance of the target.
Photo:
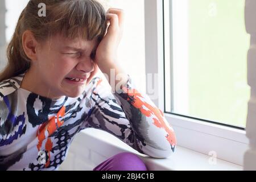
POLYGON ((36 75, 41 81, 40 85, 45 86, 40 89, 52 97, 79 96, 98 71, 98 66, 93 61, 97 46, 97 39, 70 40, 64 39, 61 35, 56 35, 41 44, 34 65, 36 75), (82 80, 77 81, 77 78, 82 80))

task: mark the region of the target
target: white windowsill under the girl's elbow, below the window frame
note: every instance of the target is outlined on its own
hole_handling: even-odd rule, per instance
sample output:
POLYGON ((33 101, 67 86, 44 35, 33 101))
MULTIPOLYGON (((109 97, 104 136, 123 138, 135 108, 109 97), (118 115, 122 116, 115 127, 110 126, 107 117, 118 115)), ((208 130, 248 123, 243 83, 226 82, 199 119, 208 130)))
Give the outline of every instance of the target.
POLYGON ((226 162, 225 160, 216 159, 216 164, 210 164, 209 159, 211 156, 201 154, 196 151, 189 150, 184 147, 176 147, 176 151, 169 158, 155 159, 150 158, 147 155, 140 154, 126 143, 117 139, 113 135, 106 133, 105 131, 97 129, 86 129, 81 131, 83 143, 89 143, 91 150, 97 151, 99 154, 109 158, 117 154, 118 152, 133 152, 141 156, 143 161, 151 171, 169 170, 169 171, 181 171, 181 170, 242 170, 243 167, 237 164, 226 162))

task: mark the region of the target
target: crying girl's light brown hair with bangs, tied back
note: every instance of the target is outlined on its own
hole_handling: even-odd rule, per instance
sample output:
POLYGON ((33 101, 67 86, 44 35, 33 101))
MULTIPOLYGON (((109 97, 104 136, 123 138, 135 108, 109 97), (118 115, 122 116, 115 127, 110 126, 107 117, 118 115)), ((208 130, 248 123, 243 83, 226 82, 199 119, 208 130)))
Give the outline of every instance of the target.
POLYGON ((66 38, 97 38, 100 42, 106 27, 106 11, 96 0, 30 0, 19 16, 7 47, 8 62, 0 73, 0 81, 30 68, 30 59, 22 46, 24 31, 30 30, 39 42, 59 33, 66 38), (46 5, 46 16, 38 15, 39 3, 46 5))

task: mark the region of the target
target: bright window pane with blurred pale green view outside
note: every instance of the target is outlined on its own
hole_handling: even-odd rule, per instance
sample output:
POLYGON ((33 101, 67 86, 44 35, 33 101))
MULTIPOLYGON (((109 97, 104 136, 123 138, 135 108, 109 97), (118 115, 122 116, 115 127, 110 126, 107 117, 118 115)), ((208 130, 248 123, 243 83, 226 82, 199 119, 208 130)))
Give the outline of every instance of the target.
POLYGON ((166 111, 245 127, 244 6, 245 0, 164 1, 166 111))

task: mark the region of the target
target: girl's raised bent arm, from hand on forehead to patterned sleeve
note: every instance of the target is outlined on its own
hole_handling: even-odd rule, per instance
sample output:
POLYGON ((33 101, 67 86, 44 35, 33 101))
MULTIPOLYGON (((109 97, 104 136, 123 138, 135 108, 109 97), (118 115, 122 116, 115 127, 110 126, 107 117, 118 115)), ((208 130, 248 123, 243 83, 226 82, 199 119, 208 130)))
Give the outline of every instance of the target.
MULTIPOLYGON (((109 9, 109 27, 96 50, 96 70, 105 73, 109 85, 97 78, 91 100, 94 102, 85 127, 94 127, 115 135, 138 152, 155 158, 167 158, 174 152, 174 130, 163 112, 146 94, 139 93, 129 75, 117 64, 117 49, 122 38, 124 14, 120 9, 109 9), (121 78, 112 85, 111 71, 121 78), (117 87, 117 90, 116 90, 117 87), (113 91, 113 93, 112 93, 113 91)), ((96 80, 93 80, 96 81, 96 80)))

